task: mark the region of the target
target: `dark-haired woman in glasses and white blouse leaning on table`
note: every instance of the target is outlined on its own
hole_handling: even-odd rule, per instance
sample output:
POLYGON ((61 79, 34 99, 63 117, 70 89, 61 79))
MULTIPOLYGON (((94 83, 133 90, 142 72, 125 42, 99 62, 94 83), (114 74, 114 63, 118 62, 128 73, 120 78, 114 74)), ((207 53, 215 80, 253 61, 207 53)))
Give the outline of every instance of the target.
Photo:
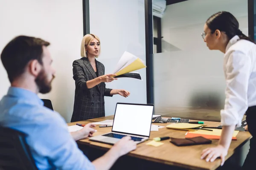
MULTIPOLYGON (((256 137, 256 45, 239 29, 236 18, 226 11, 213 14, 204 25, 204 42, 210 50, 224 53, 226 99, 221 110, 221 139, 217 147, 203 150, 201 159, 214 161, 221 157, 224 164, 236 126, 246 113, 248 131, 256 137)), ((254 167, 256 141, 250 141, 250 151, 243 168, 254 167)))

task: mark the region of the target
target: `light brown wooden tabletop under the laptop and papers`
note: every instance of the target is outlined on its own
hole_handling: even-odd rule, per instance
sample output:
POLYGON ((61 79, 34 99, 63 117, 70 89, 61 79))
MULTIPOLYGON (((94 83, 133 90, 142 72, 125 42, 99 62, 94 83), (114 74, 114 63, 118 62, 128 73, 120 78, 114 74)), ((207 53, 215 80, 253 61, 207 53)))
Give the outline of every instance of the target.
MULTIPOLYGON (((106 116, 97 119, 90 119, 87 121, 73 122, 68 125, 76 125, 76 123, 87 124, 89 122, 99 122, 107 119, 113 119, 113 116, 106 116)), ((154 123, 155 125, 166 126, 169 123, 154 123)), ((208 126, 218 126, 219 122, 206 122, 205 125, 208 126)), ((111 132, 112 127, 99 127, 96 125, 97 132, 93 136, 100 135, 103 133, 111 132)), ((171 130, 167 128, 160 128, 159 131, 151 131, 149 140, 152 140, 154 137, 160 136, 171 136, 174 138, 184 138, 186 131, 182 130, 171 130)), ((237 135, 237 140, 233 140, 228 150, 226 160, 232 156, 236 148, 244 145, 251 138, 249 132, 239 132, 237 135)), ((218 144, 218 140, 212 140, 212 144, 203 144, 203 145, 194 145, 194 146, 184 146, 177 147, 174 144, 170 143, 169 140, 161 141, 164 144, 159 147, 153 147, 146 145, 146 142, 140 143, 137 145, 137 149, 128 153, 128 156, 139 158, 147 161, 157 162, 159 164, 171 165, 174 167, 181 167, 184 169, 192 170, 215 170, 220 166, 220 159, 217 159, 213 162, 206 162, 205 160, 200 159, 201 152, 207 147, 213 147, 218 144)), ((89 139, 82 139, 77 142, 78 144, 87 145, 100 150, 107 151, 111 148, 111 145, 93 142, 89 139)))

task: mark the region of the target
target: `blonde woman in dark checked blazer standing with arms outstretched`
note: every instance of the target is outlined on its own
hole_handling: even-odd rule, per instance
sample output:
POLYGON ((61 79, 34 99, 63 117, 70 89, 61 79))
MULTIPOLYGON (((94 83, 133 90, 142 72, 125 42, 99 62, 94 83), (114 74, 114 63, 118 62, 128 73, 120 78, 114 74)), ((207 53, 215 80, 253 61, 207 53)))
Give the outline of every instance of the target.
POLYGON ((127 97, 130 92, 106 88, 115 74, 105 74, 104 65, 97 61, 100 40, 94 34, 86 34, 81 42, 81 59, 73 62, 73 79, 76 83, 74 110, 71 122, 105 116, 104 96, 119 94, 127 97))

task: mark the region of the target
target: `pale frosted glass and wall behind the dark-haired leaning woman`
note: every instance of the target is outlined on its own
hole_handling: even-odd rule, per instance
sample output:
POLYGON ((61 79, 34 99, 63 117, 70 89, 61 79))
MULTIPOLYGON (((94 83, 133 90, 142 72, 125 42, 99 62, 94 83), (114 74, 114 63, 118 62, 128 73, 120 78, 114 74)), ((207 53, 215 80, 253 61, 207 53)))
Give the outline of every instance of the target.
POLYGON ((205 21, 218 11, 231 12, 248 35, 247 0, 188 0, 166 7, 161 20, 163 53, 154 54, 156 114, 223 108, 224 54, 210 51, 201 37, 205 21))

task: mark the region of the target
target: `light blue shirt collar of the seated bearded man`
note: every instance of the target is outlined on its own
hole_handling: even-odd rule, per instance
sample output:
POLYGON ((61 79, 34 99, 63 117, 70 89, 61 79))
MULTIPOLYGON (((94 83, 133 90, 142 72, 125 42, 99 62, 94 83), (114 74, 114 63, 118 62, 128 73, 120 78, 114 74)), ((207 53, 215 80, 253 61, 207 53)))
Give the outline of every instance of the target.
POLYGON ((27 100, 32 104, 44 105, 44 102, 38 97, 37 94, 24 88, 10 87, 7 92, 7 95, 27 100))

